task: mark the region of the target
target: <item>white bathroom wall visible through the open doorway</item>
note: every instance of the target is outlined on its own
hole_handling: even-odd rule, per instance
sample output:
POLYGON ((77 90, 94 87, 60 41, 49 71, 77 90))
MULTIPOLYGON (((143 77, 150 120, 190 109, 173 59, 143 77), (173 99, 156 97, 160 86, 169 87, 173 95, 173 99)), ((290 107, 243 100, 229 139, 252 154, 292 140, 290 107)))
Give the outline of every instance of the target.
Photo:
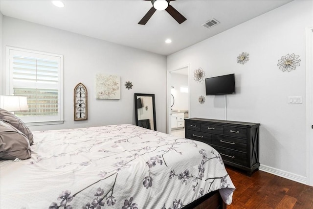
MULTIPOLYGON (((189 96, 188 92, 181 92, 180 87, 188 87, 188 75, 181 75, 177 73, 171 73, 171 93, 174 96, 173 110, 189 110, 189 96)), ((188 89, 189 91, 189 89, 188 89)))

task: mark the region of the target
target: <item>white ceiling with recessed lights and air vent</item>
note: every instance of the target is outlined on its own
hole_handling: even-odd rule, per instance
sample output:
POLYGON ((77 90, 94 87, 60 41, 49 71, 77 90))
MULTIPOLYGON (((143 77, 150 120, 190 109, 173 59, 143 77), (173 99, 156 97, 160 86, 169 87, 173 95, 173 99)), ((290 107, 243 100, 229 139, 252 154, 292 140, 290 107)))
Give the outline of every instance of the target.
POLYGON ((166 11, 156 11, 146 25, 137 24, 152 7, 145 0, 63 0, 64 8, 55 7, 50 0, 0 0, 0 11, 4 16, 169 55, 290 1, 171 1, 187 18, 181 24, 166 11), (210 29, 201 26, 212 18, 220 24, 210 29), (168 38, 171 44, 164 42, 168 38))

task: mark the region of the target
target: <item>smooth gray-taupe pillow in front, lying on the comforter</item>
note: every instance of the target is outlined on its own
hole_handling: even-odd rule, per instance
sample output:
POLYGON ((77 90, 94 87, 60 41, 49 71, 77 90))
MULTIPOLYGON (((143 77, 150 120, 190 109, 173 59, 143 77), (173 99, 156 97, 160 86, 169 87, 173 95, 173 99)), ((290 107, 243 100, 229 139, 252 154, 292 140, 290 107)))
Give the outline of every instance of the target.
POLYGON ((29 140, 18 129, 0 120, 0 159, 26 160, 31 157, 29 140))

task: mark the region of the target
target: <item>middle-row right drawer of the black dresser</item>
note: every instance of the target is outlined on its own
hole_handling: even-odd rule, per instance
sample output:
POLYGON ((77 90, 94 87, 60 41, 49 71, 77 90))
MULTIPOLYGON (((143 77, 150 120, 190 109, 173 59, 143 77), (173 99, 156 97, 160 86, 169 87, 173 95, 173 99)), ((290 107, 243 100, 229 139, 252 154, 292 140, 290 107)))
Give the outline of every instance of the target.
POLYGON ((246 152, 246 139, 237 139, 220 135, 212 135, 211 143, 227 149, 246 152))

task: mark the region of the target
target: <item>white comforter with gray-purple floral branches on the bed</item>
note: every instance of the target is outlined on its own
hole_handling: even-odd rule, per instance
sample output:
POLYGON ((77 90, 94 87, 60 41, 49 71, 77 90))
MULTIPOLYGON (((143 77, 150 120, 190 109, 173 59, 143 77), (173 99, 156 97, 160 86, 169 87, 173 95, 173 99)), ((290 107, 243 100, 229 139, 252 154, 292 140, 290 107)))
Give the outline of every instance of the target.
POLYGON ((209 145, 111 125, 33 132, 31 159, 0 162, 1 209, 181 209, 235 189, 209 145))

